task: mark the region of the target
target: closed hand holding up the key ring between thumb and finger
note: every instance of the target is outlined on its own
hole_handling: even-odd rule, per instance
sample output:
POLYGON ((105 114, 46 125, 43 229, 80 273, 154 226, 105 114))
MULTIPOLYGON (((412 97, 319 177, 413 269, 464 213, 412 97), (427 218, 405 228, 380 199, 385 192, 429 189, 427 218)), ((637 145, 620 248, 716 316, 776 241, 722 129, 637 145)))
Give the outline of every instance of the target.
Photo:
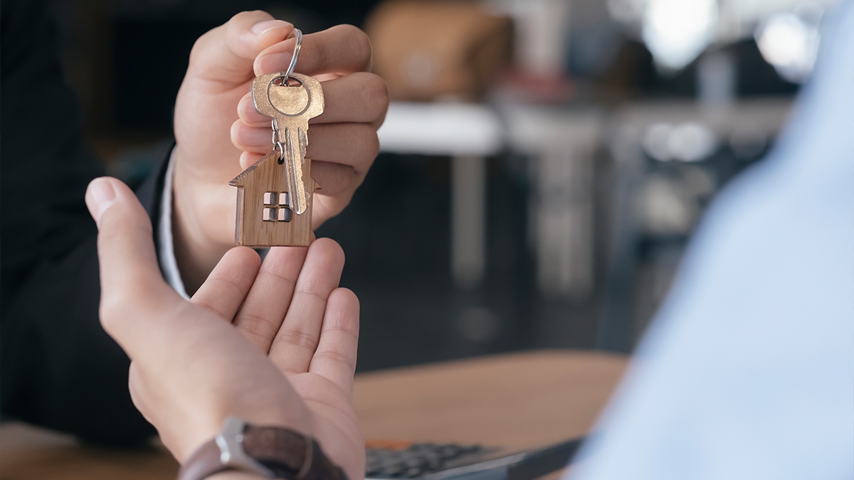
MULTIPOLYGON (((288 67, 292 31, 265 12, 243 12, 204 34, 190 54, 175 102, 173 205, 175 254, 190 292, 234 246, 237 189, 229 180, 272 149, 270 119, 254 112, 249 91, 255 76, 288 67)), ((324 80, 326 105, 311 122, 307 149, 322 187, 315 228, 347 206, 377 155, 389 96, 383 80, 366 73, 370 66, 371 44, 354 26, 303 38, 296 72, 324 80)))

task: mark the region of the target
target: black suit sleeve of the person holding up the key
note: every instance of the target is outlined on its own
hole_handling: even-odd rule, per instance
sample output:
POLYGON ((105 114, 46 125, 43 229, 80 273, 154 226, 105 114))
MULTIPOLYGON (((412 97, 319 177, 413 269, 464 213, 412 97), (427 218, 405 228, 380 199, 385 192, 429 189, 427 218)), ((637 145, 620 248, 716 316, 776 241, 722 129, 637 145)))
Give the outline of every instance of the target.
MULTIPOLYGON (((84 193, 102 166, 81 146, 44 4, 3 0, 0 21, 0 410, 91 442, 140 442, 155 430, 132 405, 130 361, 98 321, 84 193)), ((162 176, 161 166, 137 191, 149 214, 162 176)))

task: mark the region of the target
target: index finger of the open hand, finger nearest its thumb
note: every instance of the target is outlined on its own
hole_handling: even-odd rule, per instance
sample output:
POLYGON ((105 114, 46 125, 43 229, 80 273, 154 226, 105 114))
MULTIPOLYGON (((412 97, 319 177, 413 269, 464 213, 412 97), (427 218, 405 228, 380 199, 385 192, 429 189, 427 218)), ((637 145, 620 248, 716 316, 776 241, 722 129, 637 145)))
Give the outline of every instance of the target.
POLYGON ((225 252, 191 301, 231 321, 249 293, 259 267, 260 258, 253 249, 231 249, 225 252))

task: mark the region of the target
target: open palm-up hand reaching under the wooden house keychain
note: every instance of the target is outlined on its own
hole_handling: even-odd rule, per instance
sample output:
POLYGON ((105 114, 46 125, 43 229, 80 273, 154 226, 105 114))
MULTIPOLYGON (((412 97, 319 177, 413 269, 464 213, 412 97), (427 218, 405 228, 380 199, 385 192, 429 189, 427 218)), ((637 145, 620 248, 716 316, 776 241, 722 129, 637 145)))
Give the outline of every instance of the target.
POLYGON ((134 405, 183 462, 225 417, 313 436, 349 478, 365 475, 352 407, 359 301, 337 288, 343 252, 229 250, 192 300, 162 279, 151 224, 119 180, 95 179, 100 316, 130 356, 134 405), (232 325, 233 322, 233 325, 232 325))

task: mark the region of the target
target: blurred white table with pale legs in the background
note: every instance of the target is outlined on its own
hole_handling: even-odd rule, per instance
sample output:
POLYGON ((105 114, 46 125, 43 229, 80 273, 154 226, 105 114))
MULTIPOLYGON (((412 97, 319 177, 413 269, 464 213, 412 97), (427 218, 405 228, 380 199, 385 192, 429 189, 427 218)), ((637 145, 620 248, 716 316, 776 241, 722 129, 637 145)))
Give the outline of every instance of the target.
POLYGON ((601 124, 596 111, 392 102, 378 134, 383 152, 451 157, 451 271, 468 288, 486 266, 485 157, 505 148, 529 155, 535 194, 526 199, 526 227, 538 284, 547 294, 583 298, 593 286, 590 185, 601 124))

